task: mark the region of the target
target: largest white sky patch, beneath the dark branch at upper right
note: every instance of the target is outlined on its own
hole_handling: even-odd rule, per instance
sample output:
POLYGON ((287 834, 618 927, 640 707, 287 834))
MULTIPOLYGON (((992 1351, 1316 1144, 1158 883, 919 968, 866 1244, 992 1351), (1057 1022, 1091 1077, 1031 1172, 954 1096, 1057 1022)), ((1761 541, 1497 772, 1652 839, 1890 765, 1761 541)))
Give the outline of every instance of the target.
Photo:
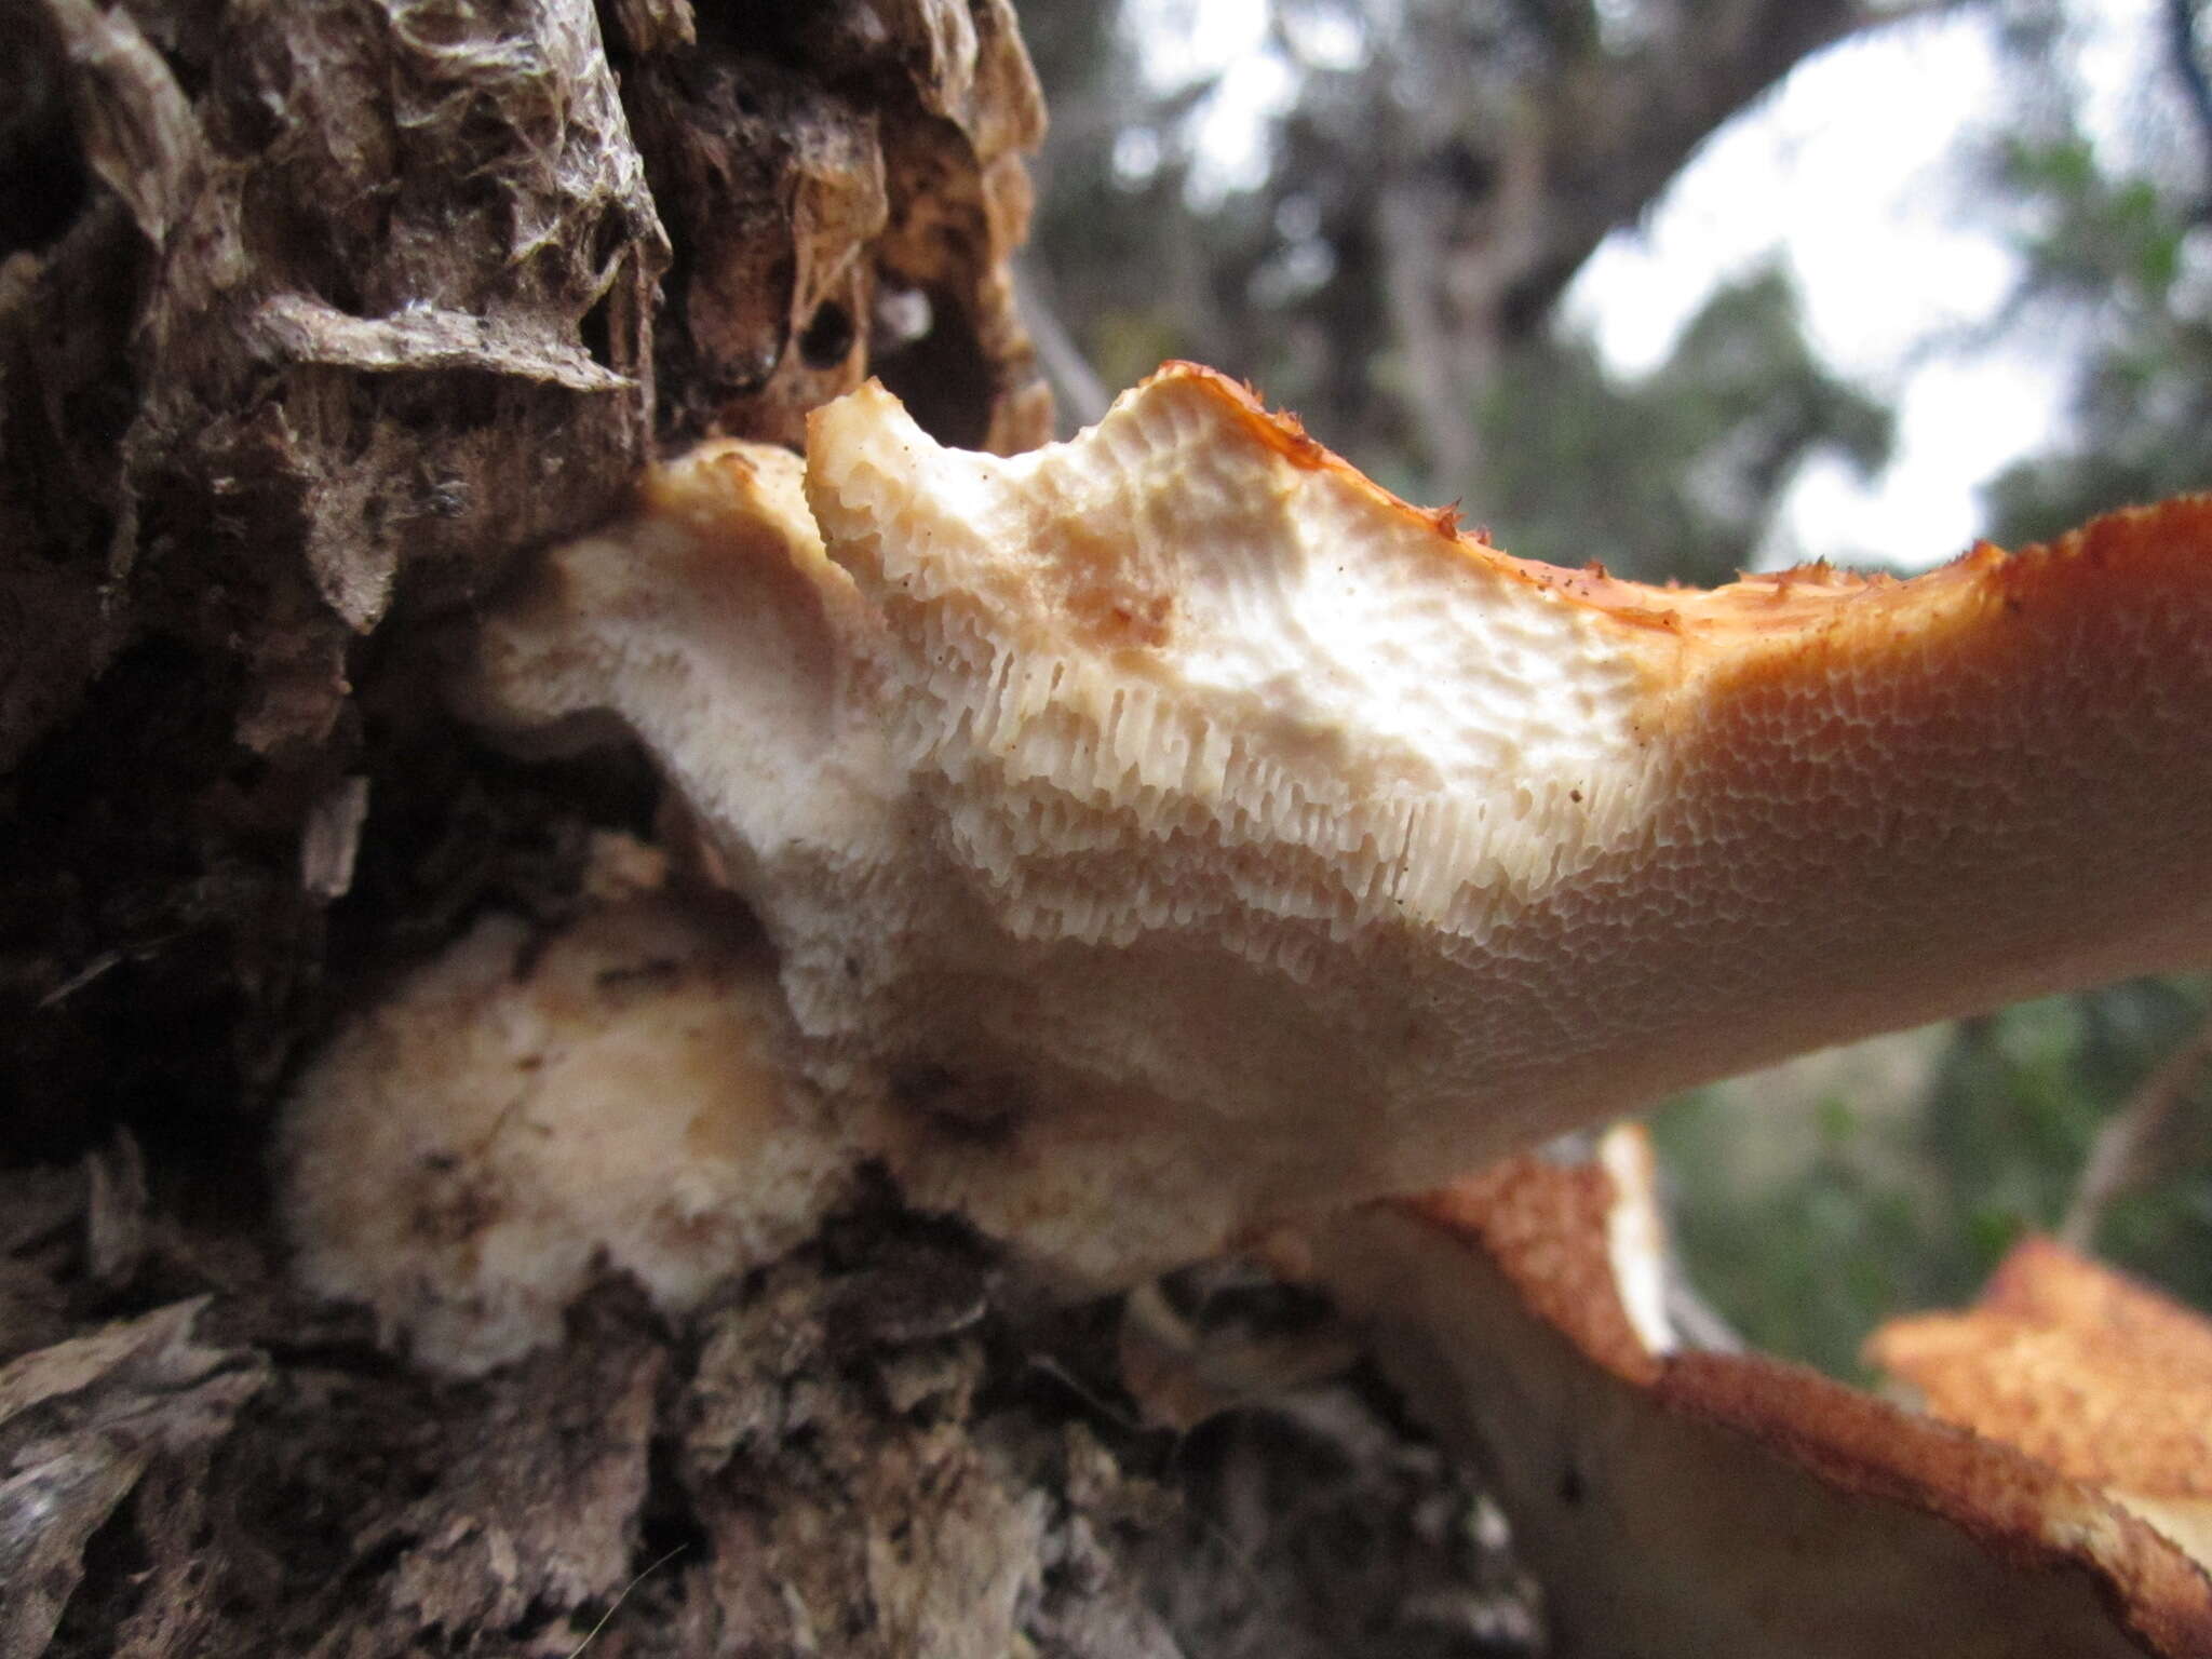
POLYGON ((1781 261, 1820 356, 1896 400, 1889 469, 1860 480, 1838 460, 1812 462, 1763 564, 1951 557, 1978 529, 1975 484, 2057 427, 2066 376, 2053 354, 1942 349, 2017 281, 1995 228, 1962 212, 1960 148, 1975 111, 1995 106, 1997 77, 1980 18, 1902 22, 1829 49, 1717 133, 1566 296, 1568 321, 1639 372, 1717 281, 1781 261))

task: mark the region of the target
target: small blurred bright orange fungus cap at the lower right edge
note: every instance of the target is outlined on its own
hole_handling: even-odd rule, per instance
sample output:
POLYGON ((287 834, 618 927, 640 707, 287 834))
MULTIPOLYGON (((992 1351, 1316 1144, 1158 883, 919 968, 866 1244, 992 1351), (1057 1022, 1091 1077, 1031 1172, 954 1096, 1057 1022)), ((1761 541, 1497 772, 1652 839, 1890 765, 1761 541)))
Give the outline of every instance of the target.
POLYGON ((1867 1356, 1931 1416, 2095 1486, 2212 1571, 2203 1316, 2031 1237, 1973 1307, 1889 1321, 1867 1356))

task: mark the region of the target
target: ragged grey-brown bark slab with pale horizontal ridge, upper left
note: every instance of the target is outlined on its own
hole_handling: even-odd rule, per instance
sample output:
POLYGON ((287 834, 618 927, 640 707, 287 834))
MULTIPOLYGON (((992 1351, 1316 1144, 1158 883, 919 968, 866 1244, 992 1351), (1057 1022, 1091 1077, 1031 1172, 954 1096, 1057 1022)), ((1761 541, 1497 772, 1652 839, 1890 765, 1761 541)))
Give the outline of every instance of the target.
MULTIPOLYGON (((334 617, 310 608, 314 644, 272 646, 296 659, 292 690, 250 703, 241 734, 319 741, 343 697, 332 622, 372 628, 403 562, 495 571, 604 511, 644 451, 666 237, 597 22, 582 0, 206 33, 148 9, 155 38, 91 0, 46 15, 86 159, 150 252, 117 365, 137 409, 111 476, 111 580, 201 540, 265 604, 305 575, 334 617), (595 363, 584 323, 602 310, 595 363), (549 480, 540 458, 575 420, 599 438, 582 476, 549 480)), ((71 274, 66 243, 42 274, 71 274)))

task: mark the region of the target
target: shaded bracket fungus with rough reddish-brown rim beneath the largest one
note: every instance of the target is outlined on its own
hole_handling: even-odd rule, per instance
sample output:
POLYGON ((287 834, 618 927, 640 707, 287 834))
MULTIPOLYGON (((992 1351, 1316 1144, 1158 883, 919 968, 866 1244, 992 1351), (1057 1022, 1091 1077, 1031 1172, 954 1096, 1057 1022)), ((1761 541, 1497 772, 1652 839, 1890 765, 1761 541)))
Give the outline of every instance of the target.
POLYGON ((2212 1655, 2212 1584, 2051 1464, 1765 1356, 1674 1347, 1632 1146, 1509 1159, 1310 1241, 1407 1402, 1475 1460, 1555 1652, 2212 1655))

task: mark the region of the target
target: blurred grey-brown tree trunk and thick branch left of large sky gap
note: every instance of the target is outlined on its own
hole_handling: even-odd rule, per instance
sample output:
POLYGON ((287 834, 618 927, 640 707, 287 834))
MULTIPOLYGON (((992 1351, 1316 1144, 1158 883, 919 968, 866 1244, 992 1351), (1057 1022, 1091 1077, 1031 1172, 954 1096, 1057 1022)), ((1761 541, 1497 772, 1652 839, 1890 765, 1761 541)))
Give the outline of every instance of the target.
MULTIPOLYGON (((1197 356, 1376 478, 1467 500, 1491 449, 1484 403, 1515 354, 1546 345, 1597 246, 1796 62, 1898 15, 1863 0, 1274 0, 1254 58, 1177 73, 1201 11, 1022 7, 1053 111, 1040 307, 1106 387, 1197 356), (1252 153, 1225 155, 1254 102, 1252 153)), ((1095 387, 1062 387, 1095 416, 1095 387)))

